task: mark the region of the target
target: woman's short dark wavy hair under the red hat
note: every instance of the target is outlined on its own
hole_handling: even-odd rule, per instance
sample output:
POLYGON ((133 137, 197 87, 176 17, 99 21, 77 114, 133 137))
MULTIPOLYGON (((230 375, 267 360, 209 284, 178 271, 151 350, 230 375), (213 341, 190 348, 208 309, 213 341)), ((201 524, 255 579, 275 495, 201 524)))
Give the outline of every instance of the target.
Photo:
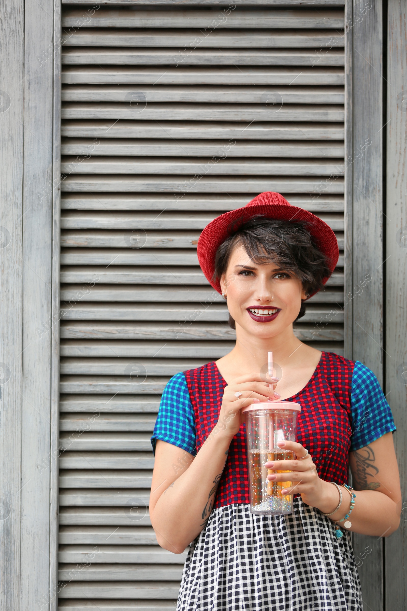
MULTIPOLYGON (((301 280, 307 295, 323 287, 330 276, 326 256, 318 249, 303 221, 277 221, 266 216, 253 216, 220 244, 215 255, 214 280, 226 272, 232 250, 243 246, 255 263, 275 263, 301 280)), ((295 320, 304 316, 304 300, 295 320)), ((236 329, 229 315, 229 325, 236 329)))

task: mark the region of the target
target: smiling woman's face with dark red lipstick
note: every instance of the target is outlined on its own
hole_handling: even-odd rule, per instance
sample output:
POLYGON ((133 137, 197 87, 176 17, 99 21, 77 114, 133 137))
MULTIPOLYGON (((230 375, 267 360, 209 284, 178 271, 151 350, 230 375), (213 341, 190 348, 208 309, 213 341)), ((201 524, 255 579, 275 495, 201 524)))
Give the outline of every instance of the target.
POLYGON ((300 279, 274 263, 254 263, 242 246, 232 251, 220 284, 236 328, 256 337, 275 337, 290 327, 306 299, 300 279))

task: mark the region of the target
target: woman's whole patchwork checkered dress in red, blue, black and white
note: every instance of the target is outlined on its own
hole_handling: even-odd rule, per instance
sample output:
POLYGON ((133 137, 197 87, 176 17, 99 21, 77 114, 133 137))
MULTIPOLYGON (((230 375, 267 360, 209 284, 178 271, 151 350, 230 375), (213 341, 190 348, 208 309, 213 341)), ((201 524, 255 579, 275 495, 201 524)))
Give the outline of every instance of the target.
MULTIPOLYGON (((168 382, 152 437, 192 455, 214 428, 226 382, 214 362, 168 382)), ((322 353, 301 404, 297 441, 319 477, 348 481, 348 453, 395 430, 373 373, 322 353)), ((362 611, 350 533, 294 496, 293 513, 250 513, 245 425, 232 439, 206 528, 190 546, 177 611, 362 611)))

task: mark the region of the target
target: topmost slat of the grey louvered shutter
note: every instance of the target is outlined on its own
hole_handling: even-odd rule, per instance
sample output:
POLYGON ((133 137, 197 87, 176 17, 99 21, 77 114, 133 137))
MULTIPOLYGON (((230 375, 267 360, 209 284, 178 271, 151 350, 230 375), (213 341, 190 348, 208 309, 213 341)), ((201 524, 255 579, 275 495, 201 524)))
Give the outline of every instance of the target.
MULTIPOLYGON (((82 18, 82 9, 67 9, 63 13, 62 27, 77 26, 77 20, 82 18)), ((241 10, 234 9, 226 13, 227 18, 218 20, 219 10, 184 10, 164 9, 137 10, 99 9, 86 20, 86 27, 243 27, 250 24, 251 28, 323 28, 340 29, 344 27, 342 10, 241 10)), ((225 17, 225 15, 223 15, 225 17)))

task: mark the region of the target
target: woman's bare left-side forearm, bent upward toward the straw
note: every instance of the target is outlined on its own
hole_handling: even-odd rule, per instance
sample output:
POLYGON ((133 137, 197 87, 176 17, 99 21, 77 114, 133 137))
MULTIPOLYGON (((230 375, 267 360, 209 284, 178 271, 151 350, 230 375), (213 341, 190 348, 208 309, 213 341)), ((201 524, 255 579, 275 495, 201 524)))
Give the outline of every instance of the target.
POLYGON ((215 426, 193 462, 160 495, 151 522, 161 547, 181 554, 206 525, 231 439, 215 426))

